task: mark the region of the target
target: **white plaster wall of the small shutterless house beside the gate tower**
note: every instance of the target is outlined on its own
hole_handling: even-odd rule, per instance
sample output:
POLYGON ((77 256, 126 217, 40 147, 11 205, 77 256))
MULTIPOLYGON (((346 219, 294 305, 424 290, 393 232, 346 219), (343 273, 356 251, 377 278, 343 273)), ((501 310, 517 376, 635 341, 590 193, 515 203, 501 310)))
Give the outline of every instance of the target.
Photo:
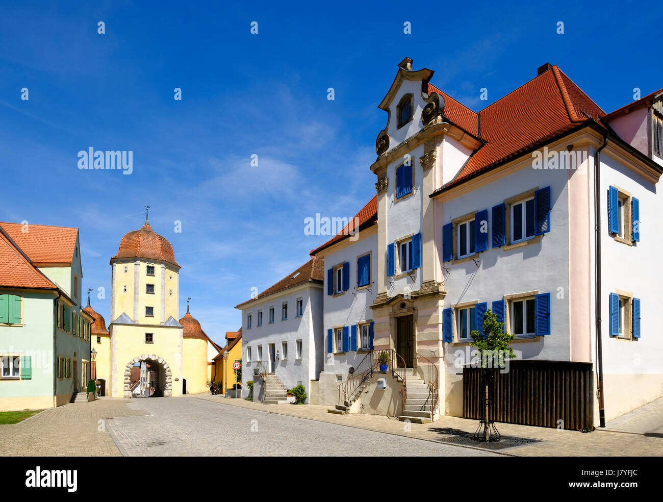
POLYGON ((263 363, 269 360, 269 344, 282 356, 282 342, 288 342, 288 359, 276 359, 274 373, 286 388, 292 389, 300 382, 310 395, 310 381, 317 379, 316 359, 322 357, 318 353, 318 345, 322 334, 316 332, 322 318, 322 288, 320 284, 302 284, 274 295, 265 300, 257 301, 242 309, 242 360, 245 361, 242 371, 242 396, 248 397, 246 387, 248 379, 253 380, 253 368, 258 359, 258 345, 263 345, 263 363), (296 300, 302 298, 304 312, 296 317, 296 300), (288 319, 281 320, 282 302, 288 302, 288 319), (274 323, 269 324, 269 307, 274 306, 274 323), (258 326, 258 310, 263 310, 263 326, 258 326), (247 328, 247 315, 251 313, 252 326, 247 328), (313 332, 312 332, 313 328, 313 332), (302 340, 302 358, 296 359, 296 341, 302 340), (316 343, 317 341, 317 343, 316 343), (247 346, 251 346, 251 362, 247 361, 247 346))

